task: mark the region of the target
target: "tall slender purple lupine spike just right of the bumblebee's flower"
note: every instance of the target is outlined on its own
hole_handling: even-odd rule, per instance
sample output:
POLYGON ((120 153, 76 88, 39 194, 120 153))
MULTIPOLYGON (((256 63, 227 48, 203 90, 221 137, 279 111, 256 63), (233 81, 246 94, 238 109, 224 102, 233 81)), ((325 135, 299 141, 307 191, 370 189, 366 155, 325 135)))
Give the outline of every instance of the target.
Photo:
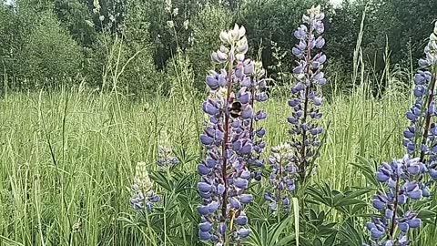
POLYGON ((300 61, 293 69, 296 83, 291 87, 292 97, 289 101, 292 115, 287 118, 291 125, 290 147, 295 149, 295 156, 287 161, 294 163, 300 182, 305 182, 311 175, 313 165, 310 164, 318 157, 318 137, 323 132, 315 121, 321 118, 320 106, 323 102, 318 87, 326 84, 321 72, 326 56, 318 51, 325 45, 325 40, 320 36, 324 31, 324 15, 320 12, 320 5, 312 6, 307 14, 302 16, 303 24, 294 32, 299 43, 293 47, 292 53, 300 61))

